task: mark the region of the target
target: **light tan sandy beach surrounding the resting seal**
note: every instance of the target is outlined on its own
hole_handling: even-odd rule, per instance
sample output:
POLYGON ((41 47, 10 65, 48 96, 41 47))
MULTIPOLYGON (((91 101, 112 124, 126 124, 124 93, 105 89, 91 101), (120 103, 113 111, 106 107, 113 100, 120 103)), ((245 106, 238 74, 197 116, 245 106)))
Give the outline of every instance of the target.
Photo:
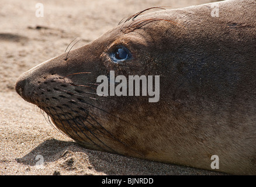
POLYGON ((180 8, 210 0, 37 1, 1 0, 0 175, 223 175, 87 150, 52 126, 15 92, 19 75, 49 58, 95 40, 123 18, 153 6, 180 8))

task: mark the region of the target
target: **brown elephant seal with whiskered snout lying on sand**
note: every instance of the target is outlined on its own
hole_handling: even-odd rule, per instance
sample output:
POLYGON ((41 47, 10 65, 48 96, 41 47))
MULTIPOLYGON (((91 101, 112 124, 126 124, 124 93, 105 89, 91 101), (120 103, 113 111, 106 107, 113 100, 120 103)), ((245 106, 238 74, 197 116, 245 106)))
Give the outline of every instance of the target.
POLYGON ((255 175, 255 10, 233 0, 135 15, 25 72, 16 91, 86 148, 255 175), (159 75, 159 101, 98 95, 110 71, 159 75))

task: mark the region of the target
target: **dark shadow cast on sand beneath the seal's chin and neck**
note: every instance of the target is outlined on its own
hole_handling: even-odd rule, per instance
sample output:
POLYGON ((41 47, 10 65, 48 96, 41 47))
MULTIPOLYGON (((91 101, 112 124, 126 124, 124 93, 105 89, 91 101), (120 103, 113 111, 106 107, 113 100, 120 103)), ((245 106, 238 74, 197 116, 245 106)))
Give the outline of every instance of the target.
POLYGON ((44 141, 24 157, 15 160, 34 166, 42 158, 37 155, 41 155, 45 163, 61 160, 61 165, 66 164, 66 169, 94 168, 95 171, 107 175, 223 175, 220 172, 88 150, 73 141, 60 141, 54 138, 44 141))

